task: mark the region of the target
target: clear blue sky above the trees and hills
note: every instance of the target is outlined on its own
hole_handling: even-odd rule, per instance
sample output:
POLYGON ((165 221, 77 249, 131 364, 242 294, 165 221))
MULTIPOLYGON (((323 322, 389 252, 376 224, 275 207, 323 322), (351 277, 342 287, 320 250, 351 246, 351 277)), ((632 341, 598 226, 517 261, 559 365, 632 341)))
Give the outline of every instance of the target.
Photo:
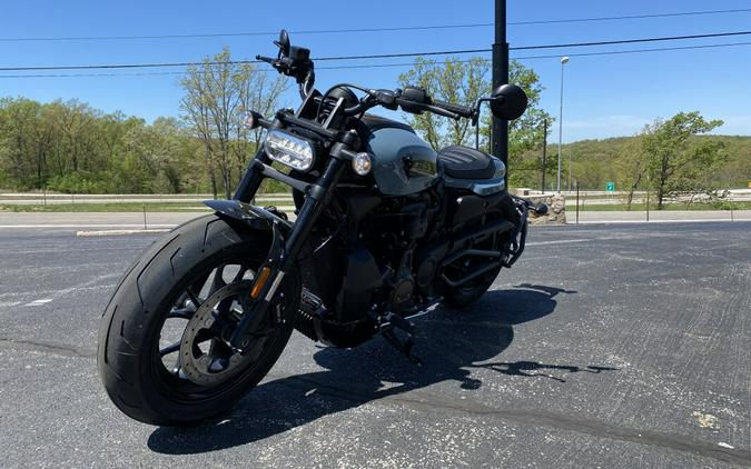
MULTIPOLYGON (((57 1, 7 2, 0 38, 113 34, 180 34, 377 28, 492 22, 486 1, 57 1)), ((748 0, 508 0, 508 21, 592 18, 681 11, 751 8, 748 0)), ((511 26, 513 46, 601 41, 636 37, 698 34, 751 29, 751 12, 545 26, 511 26)), ((270 54, 273 37, 138 41, 2 42, 0 67, 196 61, 228 46, 236 59, 270 54)), ((413 52, 490 47, 492 28, 457 30, 291 34, 314 56, 413 52)), ((751 37, 671 42, 670 46, 751 41, 751 37)), ((633 44, 514 56, 655 48, 633 44)), ((381 62, 408 62, 384 59, 381 62)), ((556 58, 523 60, 546 88, 542 106, 559 113, 560 63, 556 58)), ((363 62, 347 62, 363 63, 363 62)), ((330 63, 327 63, 330 64, 330 63)), ((319 63, 323 66, 323 63, 319 63)), ((320 87, 352 81, 394 88, 407 68, 319 70, 320 87)), ((43 73, 43 72, 42 72, 43 73)), ((51 72, 55 73, 55 72, 51 72)), ((75 73, 75 72, 71 72, 75 73)), ((127 73, 127 71, 123 71, 127 73)), ((8 72, 0 72, 8 74, 8 72)), ((656 117, 698 110, 725 120, 718 133, 751 134, 751 46, 601 57, 573 57, 565 70, 564 141, 635 133, 656 117)), ((0 96, 39 101, 78 98, 107 112, 121 110, 152 120, 176 116, 181 91, 175 76, 0 78, 0 96)), ((285 97, 296 104, 296 93, 285 97)), ((556 140, 557 128, 551 140, 556 140)))

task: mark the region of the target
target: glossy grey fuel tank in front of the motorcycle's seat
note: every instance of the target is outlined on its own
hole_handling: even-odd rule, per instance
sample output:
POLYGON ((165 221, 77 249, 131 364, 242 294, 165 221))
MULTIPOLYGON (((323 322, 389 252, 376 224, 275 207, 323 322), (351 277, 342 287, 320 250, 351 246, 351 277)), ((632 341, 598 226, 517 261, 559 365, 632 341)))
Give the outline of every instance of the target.
POLYGON ((374 156, 373 177, 384 194, 408 196, 438 179, 437 153, 407 126, 374 126, 367 150, 374 156))

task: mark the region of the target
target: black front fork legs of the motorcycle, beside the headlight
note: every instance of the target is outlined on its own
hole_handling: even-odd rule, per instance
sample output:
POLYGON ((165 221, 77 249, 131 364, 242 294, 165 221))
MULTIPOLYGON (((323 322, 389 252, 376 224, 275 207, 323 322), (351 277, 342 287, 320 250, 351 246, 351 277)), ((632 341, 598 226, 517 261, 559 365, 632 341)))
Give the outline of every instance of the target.
MULTIPOLYGON (((263 150, 259 151, 243 177, 235 192, 235 200, 245 203, 249 203, 253 200, 265 178, 264 172, 276 173, 267 166, 268 163, 268 157, 263 150)), ((304 187, 305 202, 286 239, 281 233, 278 222, 271 221, 271 248, 250 290, 250 299, 253 301, 250 310, 243 315, 243 319, 240 319, 237 329, 233 332, 229 340, 231 347, 241 350, 244 338, 251 325, 268 313, 274 296, 281 285, 281 280, 285 275, 296 267, 297 256, 303 249, 313 227, 315 227, 318 217, 329 202, 334 187, 345 168, 343 156, 332 154, 326 161, 323 174, 315 182, 304 187)), ((274 318, 274 320, 284 322, 286 319, 281 317, 274 318)))

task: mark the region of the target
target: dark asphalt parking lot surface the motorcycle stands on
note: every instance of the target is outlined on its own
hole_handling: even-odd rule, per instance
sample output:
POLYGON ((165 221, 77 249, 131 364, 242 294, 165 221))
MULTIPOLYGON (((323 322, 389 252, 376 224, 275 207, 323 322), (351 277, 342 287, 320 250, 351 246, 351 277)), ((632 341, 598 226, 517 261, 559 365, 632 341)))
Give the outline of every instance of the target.
POLYGON ((475 306, 376 339, 295 333, 228 416, 128 420, 96 370, 99 317, 154 237, 0 230, 0 465, 751 466, 751 223, 543 227, 475 306))

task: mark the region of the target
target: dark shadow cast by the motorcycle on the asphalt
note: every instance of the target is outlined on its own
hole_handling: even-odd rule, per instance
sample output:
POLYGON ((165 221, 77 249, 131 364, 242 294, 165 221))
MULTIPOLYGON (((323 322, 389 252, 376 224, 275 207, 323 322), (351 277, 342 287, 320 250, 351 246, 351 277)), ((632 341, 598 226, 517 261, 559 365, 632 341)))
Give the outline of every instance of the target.
POLYGON ((486 368, 506 375, 535 376, 531 370, 557 368, 569 372, 599 372, 596 367, 546 366, 535 362, 475 365, 501 355, 514 338, 513 326, 554 312, 555 297, 576 293, 555 287, 521 285, 488 291, 466 310, 438 306, 417 319, 415 355, 411 363, 383 338, 344 350, 320 348, 316 363, 326 370, 278 377, 257 386, 230 413, 191 428, 157 428, 151 450, 169 455, 216 451, 263 440, 364 403, 453 381, 478 389, 472 370, 486 368), (275 379, 276 378, 276 379, 275 379))

